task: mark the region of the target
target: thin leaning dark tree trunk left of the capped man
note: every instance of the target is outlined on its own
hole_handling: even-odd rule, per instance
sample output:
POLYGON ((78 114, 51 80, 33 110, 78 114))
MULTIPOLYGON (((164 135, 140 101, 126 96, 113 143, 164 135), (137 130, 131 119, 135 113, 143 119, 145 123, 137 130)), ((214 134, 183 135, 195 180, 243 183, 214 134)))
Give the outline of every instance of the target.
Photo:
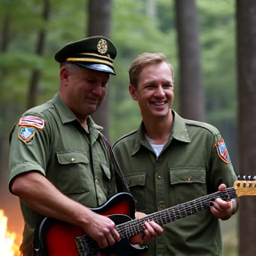
MULTIPOLYGON (((50 17, 50 0, 44 0, 43 20, 46 23, 50 17)), ((46 38, 46 31, 42 29, 38 33, 36 54, 42 56, 44 52, 44 44, 46 38)), ((28 87, 28 108, 36 106, 38 84, 40 81, 41 70, 34 68, 31 73, 31 78, 28 87)))

